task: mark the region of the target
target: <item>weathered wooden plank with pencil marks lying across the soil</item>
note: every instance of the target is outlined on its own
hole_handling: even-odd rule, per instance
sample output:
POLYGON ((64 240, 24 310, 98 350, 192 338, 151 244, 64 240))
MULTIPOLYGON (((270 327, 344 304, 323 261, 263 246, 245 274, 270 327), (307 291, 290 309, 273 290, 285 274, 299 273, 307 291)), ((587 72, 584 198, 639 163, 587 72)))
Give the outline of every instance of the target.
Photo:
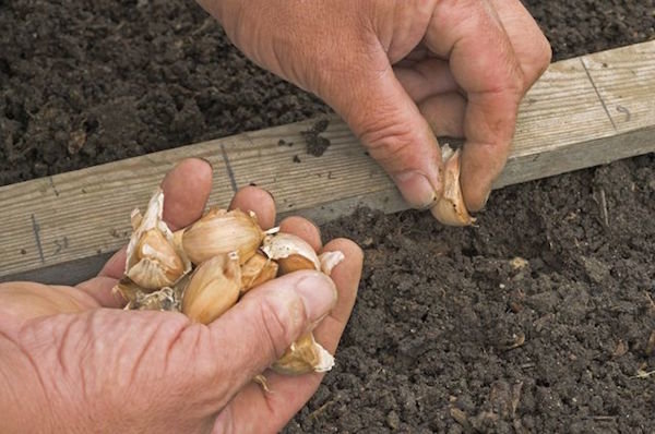
MULTIPOLYGON (((650 41, 551 64, 524 99, 513 150, 495 188, 655 150, 654 50, 650 41), (612 112, 617 106, 630 119, 612 112)), ((305 152, 301 132, 314 123, 309 120, 0 188, 0 281, 91 275, 126 242, 131 209, 143 207, 184 157, 213 164, 212 204, 227 204, 235 188, 257 183, 273 193, 282 215, 318 222, 358 205, 405 208, 347 125, 330 120, 323 136, 332 145, 321 157, 305 152), (278 145, 281 138, 293 145, 278 145), (60 264, 69 264, 66 272, 52 272, 60 264)))

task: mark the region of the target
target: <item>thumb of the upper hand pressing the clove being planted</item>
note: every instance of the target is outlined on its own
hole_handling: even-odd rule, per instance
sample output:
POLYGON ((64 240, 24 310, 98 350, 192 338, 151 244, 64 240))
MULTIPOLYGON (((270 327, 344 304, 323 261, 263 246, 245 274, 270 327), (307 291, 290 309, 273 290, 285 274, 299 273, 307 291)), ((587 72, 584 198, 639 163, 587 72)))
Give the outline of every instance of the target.
POLYGON ((349 74, 321 97, 346 120, 405 201, 427 208, 443 189, 439 144, 386 58, 379 63, 370 72, 349 74))

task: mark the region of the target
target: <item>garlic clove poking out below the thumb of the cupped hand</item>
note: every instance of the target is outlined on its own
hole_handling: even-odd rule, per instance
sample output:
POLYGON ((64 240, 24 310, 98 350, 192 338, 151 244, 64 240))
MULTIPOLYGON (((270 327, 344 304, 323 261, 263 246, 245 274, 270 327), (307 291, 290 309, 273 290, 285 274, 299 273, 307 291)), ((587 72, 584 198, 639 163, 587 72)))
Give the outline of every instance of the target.
POLYGON ((334 366, 334 357, 314 340, 311 333, 298 338, 271 366, 279 374, 301 375, 327 372, 334 366))

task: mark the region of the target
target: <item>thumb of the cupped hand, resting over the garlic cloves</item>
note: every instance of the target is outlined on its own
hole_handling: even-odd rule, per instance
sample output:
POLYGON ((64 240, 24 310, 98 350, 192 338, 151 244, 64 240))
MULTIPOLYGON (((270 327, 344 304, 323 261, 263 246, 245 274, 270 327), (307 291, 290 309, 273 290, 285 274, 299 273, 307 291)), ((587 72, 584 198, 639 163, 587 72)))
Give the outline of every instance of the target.
POLYGON ((205 360, 219 372, 214 381, 231 397, 275 362, 336 303, 332 279, 319 272, 297 272, 250 291, 210 325, 205 360), (223 349, 229 349, 224 351, 223 349))

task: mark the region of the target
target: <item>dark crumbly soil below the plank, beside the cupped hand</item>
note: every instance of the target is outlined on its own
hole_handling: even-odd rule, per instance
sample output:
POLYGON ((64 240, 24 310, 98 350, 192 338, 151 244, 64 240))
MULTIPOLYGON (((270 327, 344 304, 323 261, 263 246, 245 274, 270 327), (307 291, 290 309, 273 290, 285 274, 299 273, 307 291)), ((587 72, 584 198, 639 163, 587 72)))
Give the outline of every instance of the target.
POLYGON ((366 267, 337 365, 287 433, 655 430, 655 375, 638 377, 655 370, 655 156, 487 207, 477 228, 368 210, 323 228, 366 267))

